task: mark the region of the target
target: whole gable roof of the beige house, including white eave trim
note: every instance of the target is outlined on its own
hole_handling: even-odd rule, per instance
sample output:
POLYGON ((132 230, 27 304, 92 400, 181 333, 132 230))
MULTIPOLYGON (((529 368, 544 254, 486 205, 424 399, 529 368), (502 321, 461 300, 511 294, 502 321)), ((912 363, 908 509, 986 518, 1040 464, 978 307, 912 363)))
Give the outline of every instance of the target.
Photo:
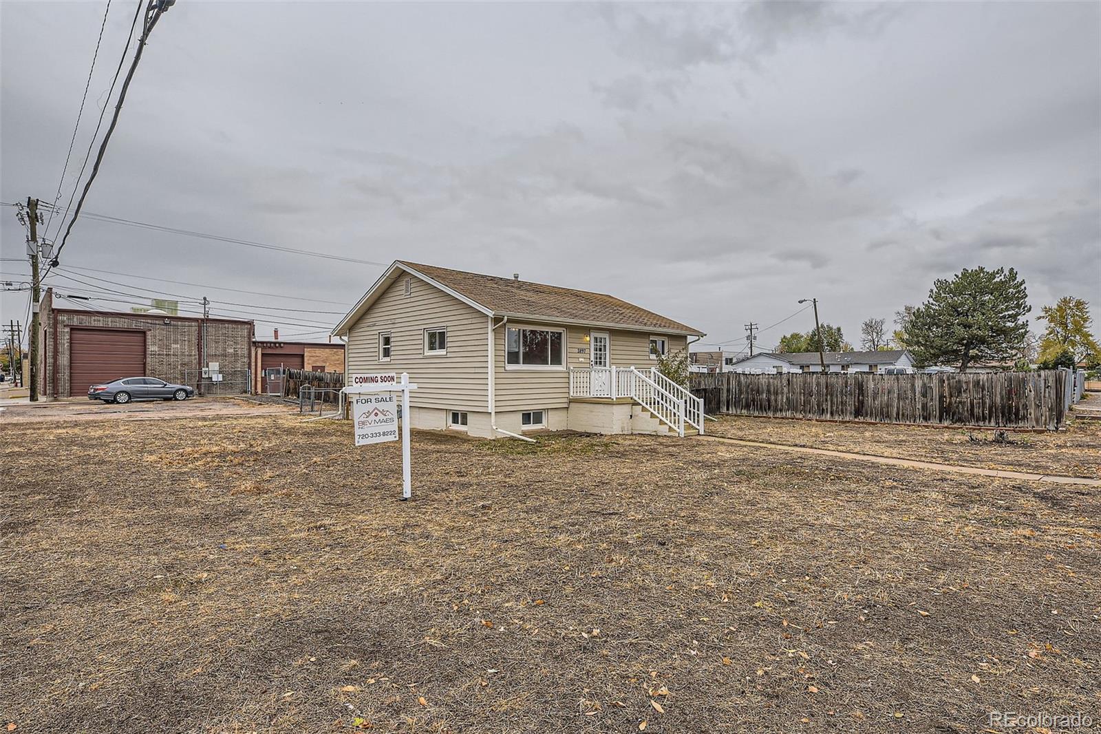
POLYGON ((702 336, 704 333, 606 293, 395 260, 346 315, 334 334, 344 334, 401 272, 408 272, 491 316, 565 324, 654 331, 702 336))

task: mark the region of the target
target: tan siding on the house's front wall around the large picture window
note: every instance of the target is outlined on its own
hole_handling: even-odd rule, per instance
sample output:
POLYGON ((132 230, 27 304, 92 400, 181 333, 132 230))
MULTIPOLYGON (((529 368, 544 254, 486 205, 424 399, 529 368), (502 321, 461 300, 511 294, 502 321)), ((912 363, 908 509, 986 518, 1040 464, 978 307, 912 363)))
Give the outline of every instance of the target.
MULTIPOLYGON (((601 330, 596 330, 601 331, 601 330)), ((648 369, 656 365, 650 358, 650 332, 607 330, 611 339, 611 366, 648 369)), ((566 408, 569 404, 569 367, 589 366, 589 343, 585 326, 556 326, 535 322, 509 322, 493 334, 494 392, 498 411, 566 408), (562 369, 505 368, 505 330, 548 328, 566 331, 566 365, 562 369)), ((656 335, 655 335, 656 336, 656 335)), ((669 350, 685 348, 687 337, 666 336, 669 350)))

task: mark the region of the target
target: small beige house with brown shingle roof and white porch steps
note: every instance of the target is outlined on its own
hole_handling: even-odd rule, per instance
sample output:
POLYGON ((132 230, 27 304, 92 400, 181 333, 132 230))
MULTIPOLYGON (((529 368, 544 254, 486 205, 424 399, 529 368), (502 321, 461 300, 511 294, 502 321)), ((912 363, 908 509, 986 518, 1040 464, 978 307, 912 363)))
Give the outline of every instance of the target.
POLYGON ((345 375, 408 373, 412 428, 487 439, 702 429, 657 355, 702 333, 602 293, 395 261, 346 315, 345 375))

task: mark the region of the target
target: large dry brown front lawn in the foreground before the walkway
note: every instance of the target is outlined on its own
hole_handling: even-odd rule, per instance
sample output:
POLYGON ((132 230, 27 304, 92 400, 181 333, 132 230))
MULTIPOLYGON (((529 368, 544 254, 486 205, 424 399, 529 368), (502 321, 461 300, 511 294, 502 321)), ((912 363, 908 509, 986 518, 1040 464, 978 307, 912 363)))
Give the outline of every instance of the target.
POLYGON ((156 429, 0 434, 18 731, 973 732, 1101 701, 1092 490, 415 432, 401 503, 400 444, 347 423, 156 429))

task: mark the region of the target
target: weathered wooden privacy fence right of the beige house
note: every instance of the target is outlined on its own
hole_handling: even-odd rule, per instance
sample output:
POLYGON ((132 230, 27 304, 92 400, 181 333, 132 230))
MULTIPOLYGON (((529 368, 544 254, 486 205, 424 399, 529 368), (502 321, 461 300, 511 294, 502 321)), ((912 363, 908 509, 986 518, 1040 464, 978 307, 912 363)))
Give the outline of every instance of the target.
POLYGON ((793 373, 691 375, 707 413, 992 428, 1058 429, 1059 370, 935 375, 793 373))

